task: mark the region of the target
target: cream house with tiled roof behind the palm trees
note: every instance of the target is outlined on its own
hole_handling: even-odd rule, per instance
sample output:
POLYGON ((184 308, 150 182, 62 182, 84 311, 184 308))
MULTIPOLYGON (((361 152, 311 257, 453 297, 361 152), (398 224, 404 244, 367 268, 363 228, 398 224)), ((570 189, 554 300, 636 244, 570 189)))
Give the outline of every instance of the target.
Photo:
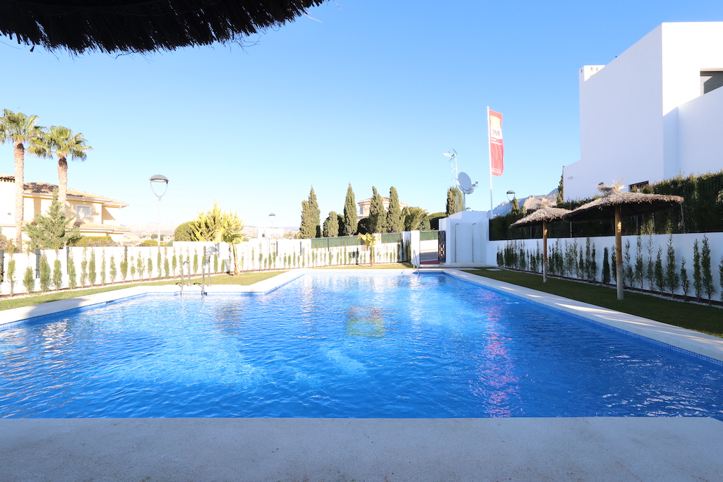
MULTIPOLYGON (((23 184, 25 198, 25 223, 30 223, 35 214, 45 214, 53 199, 55 184, 26 182, 23 184)), ((122 241, 130 231, 119 225, 119 211, 127 202, 111 199, 77 189, 68 189, 66 215, 74 216, 74 223, 85 236, 110 236, 122 241)), ((15 229, 15 176, 0 174, 0 228, 5 236, 11 237, 15 229)))

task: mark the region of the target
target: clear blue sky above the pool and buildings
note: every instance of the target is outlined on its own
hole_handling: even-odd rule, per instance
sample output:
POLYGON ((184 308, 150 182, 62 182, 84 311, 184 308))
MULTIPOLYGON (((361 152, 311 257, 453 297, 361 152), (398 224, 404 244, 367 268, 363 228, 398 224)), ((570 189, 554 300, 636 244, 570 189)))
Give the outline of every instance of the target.
MULTIPOLYGON (((661 22, 723 20, 714 1, 337 0, 249 45, 72 58, 0 38, 0 108, 82 132, 69 187, 129 202, 124 224, 153 223, 148 178, 171 182, 161 222, 213 201, 246 225, 298 226, 310 187, 322 220, 372 186, 442 211, 448 158, 489 209, 486 108, 504 116, 505 173, 494 202, 557 187, 579 157, 578 69, 607 64, 661 22), (337 6, 338 4, 338 6, 337 6)), ((721 46, 723 48, 723 46, 721 46)), ((0 173, 12 173, 0 145, 0 173)), ((611 180, 615 173, 611 173, 611 180)), ((56 184, 28 155, 25 181, 56 184)))

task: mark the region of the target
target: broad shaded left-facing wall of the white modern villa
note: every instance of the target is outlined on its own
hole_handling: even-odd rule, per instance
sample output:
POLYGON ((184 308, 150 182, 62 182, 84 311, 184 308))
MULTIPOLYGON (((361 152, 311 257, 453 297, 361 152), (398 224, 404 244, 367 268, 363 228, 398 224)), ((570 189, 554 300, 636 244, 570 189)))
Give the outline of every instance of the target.
POLYGON ((565 166, 565 198, 623 177, 662 178, 661 34, 657 27, 587 80, 580 73, 581 163, 565 166))

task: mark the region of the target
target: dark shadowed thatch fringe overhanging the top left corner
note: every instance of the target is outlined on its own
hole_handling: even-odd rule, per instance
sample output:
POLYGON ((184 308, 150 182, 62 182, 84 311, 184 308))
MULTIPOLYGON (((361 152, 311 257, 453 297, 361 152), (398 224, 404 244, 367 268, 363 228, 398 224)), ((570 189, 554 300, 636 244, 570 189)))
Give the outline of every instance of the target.
POLYGON ((0 0, 0 33, 72 53, 150 52, 228 43, 323 0, 0 0))

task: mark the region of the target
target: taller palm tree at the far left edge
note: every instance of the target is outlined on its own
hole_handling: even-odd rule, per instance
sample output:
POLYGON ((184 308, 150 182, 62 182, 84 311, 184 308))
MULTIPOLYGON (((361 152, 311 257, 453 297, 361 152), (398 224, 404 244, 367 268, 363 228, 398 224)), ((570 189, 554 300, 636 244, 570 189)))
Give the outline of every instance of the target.
POLYGON ((22 112, 13 112, 3 109, 0 117, 0 142, 10 141, 13 144, 15 159, 15 246, 22 250, 22 222, 25 218, 23 204, 23 184, 25 176, 25 143, 30 144, 28 152, 35 154, 38 148, 35 141, 43 133, 42 127, 36 126, 38 116, 26 116, 22 112))

